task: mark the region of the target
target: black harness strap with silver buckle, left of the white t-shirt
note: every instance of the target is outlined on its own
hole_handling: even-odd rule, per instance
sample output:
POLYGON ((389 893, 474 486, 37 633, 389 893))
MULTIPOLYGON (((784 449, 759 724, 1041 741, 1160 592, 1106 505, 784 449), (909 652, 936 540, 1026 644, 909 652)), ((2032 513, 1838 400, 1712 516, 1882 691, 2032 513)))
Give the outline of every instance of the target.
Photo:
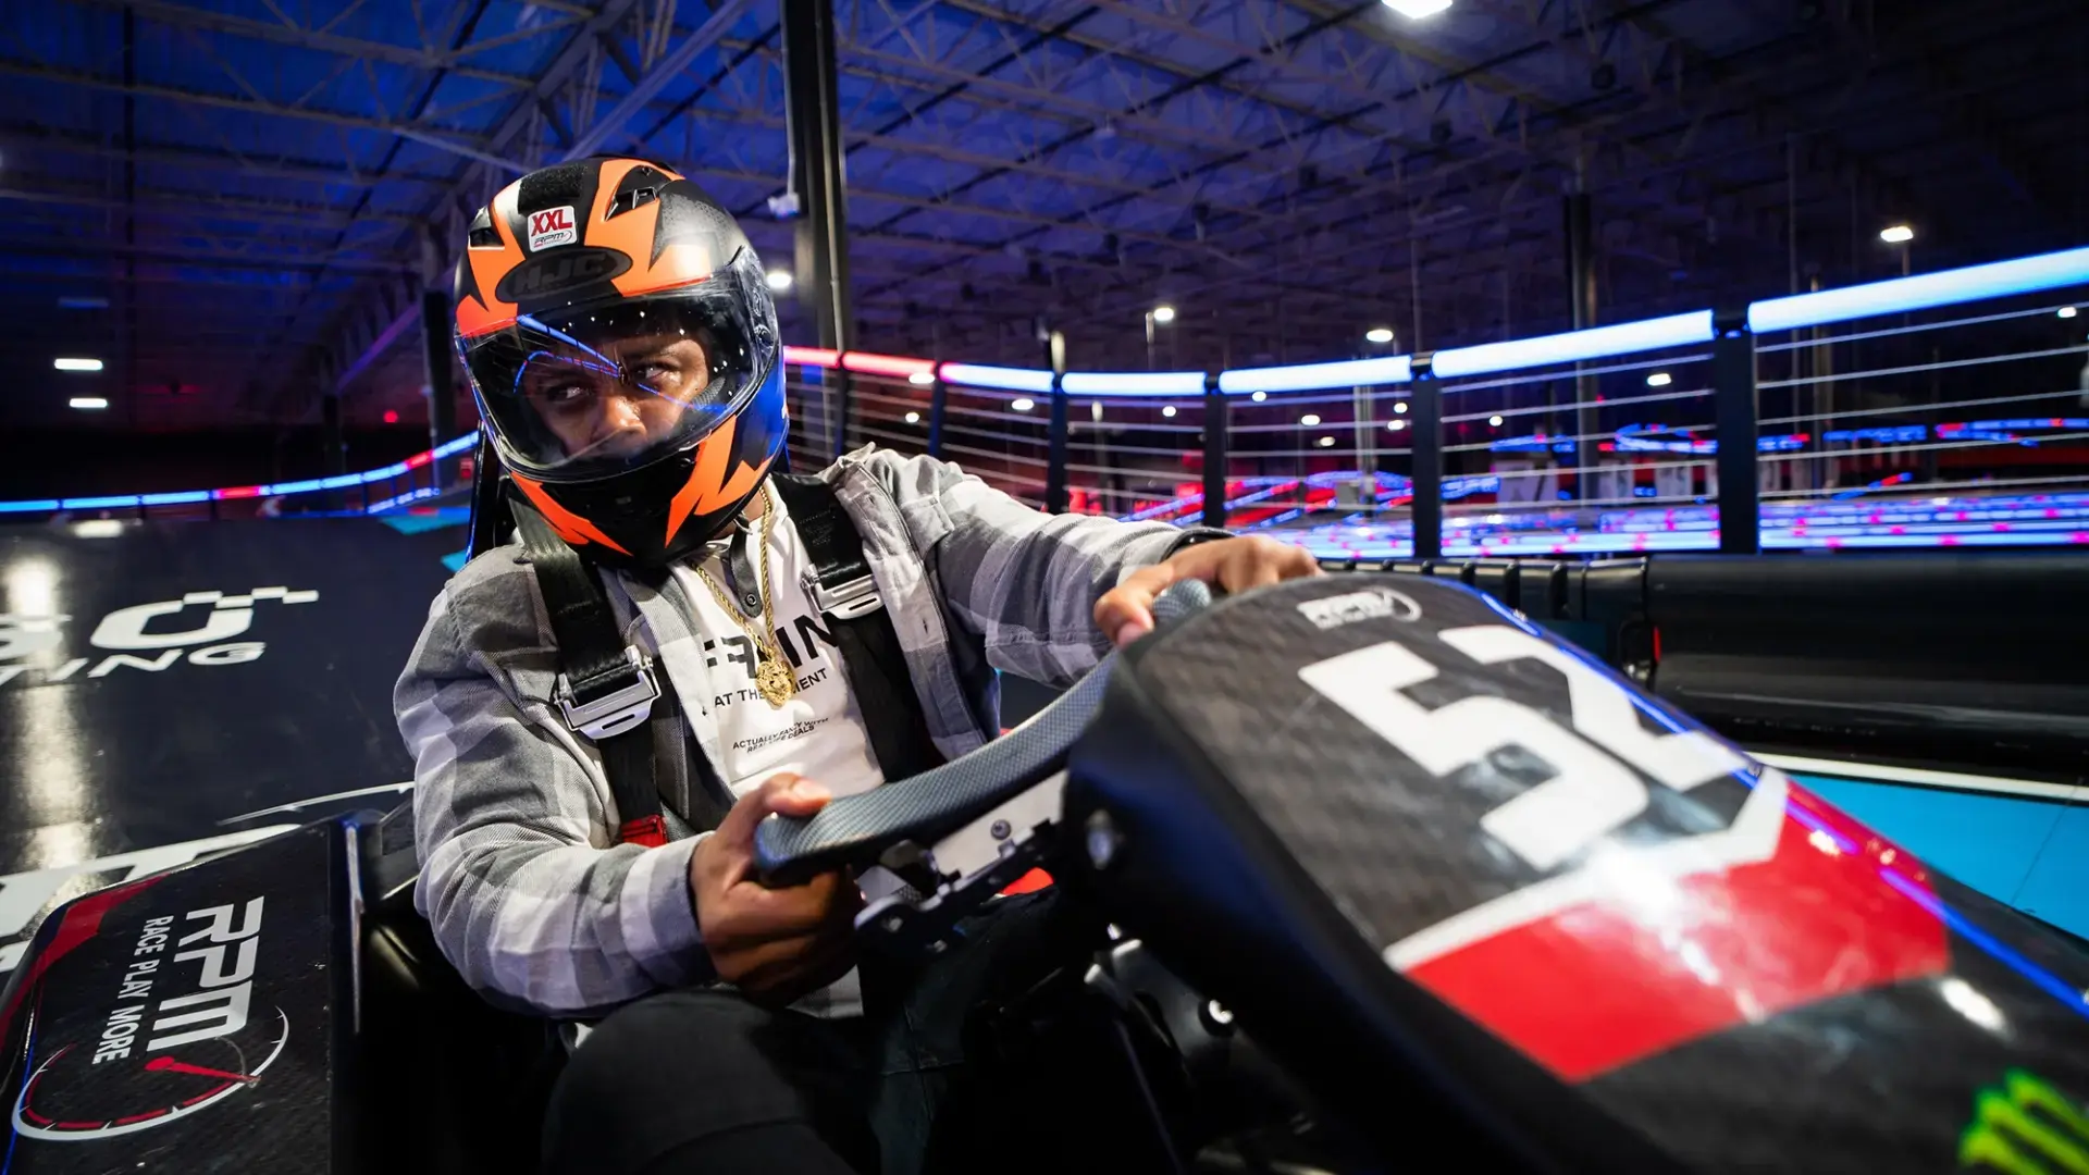
MULTIPOLYGON (((533 506, 512 502, 512 510, 558 640, 560 673, 551 698, 566 725, 602 748, 602 774, 620 820, 616 840, 666 845, 648 721, 660 700, 652 661, 616 629, 595 569, 533 506)), ((717 828, 723 811, 712 811, 717 805, 704 788, 691 786, 689 803, 706 809, 685 813, 689 824, 717 828)))

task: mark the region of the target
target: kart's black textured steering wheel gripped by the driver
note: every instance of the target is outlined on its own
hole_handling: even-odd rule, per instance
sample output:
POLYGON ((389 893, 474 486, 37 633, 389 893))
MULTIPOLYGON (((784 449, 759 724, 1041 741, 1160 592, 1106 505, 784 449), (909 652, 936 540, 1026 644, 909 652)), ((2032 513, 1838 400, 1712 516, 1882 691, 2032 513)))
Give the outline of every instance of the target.
MULTIPOLYGON (((1182 581, 1153 602, 1155 627, 1205 608, 1212 590, 1182 581)), ((948 926, 1028 872, 1059 824, 1074 742, 1095 719, 1118 654, 1009 734, 940 767, 842 797, 811 817, 771 815, 754 832, 767 884, 854 868, 867 905, 856 928, 934 947, 948 926)))

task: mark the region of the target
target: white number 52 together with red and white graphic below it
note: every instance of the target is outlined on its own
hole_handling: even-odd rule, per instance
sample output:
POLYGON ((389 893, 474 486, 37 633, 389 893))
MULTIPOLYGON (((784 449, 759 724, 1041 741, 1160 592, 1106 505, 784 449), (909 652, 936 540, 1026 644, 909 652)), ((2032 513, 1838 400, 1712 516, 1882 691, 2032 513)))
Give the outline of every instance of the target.
POLYGON ((1439 690, 1450 675, 1404 642, 1297 673, 1446 782, 1504 755, 1546 769, 1479 820, 1542 880, 1383 943, 1389 966, 1540 1064, 1588 1079, 1949 962, 1943 924, 1880 884, 1880 870, 1895 870, 1920 891, 1920 866, 1780 771, 1753 776, 1703 732, 1648 730, 1642 713, 1659 721, 1659 711, 1523 629, 1473 625, 1441 642, 1479 665, 1558 671, 1571 721, 1500 694, 1423 705, 1408 690, 1439 690), (1657 788, 1690 792, 1721 778, 1751 788, 1723 826, 1648 832, 1638 822, 1657 788))

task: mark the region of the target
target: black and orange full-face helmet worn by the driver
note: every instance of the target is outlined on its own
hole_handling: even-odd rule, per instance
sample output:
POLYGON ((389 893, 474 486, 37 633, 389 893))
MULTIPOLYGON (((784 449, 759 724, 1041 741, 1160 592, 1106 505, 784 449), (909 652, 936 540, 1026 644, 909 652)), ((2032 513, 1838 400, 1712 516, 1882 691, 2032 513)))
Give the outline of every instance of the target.
POLYGON ((583 554, 662 567, 783 450, 775 303, 733 215, 643 159, 531 171, 472 220, 457 353, 516 491, 583 554))

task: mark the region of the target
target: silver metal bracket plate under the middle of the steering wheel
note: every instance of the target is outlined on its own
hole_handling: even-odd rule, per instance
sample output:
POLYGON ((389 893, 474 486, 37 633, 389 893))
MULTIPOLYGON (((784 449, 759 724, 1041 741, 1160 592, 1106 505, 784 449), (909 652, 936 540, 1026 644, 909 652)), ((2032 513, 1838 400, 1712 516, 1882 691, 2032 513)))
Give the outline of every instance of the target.
POLYGON ((948 836, 900 840, 856 876, 861 941, 898 955, 936 955, 950 928, 1015 878, 1044 863, 1057 843, 1065 771, 1053 771, 948 836))

